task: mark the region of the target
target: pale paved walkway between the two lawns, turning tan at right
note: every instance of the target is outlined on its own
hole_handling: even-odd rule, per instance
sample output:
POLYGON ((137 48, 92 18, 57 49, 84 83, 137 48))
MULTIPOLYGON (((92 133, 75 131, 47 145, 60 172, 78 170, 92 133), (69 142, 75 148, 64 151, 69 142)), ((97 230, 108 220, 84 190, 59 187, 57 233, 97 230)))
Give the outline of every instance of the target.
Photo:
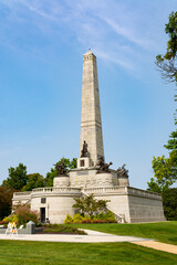
POLYGON ((84 230, 87 235, 63 235, 63 234, 33 234, 33 235, 4 235, 0 234, 0 240, 20 240, 20 241, 45 241, 45 242, 73 242, 73 243, 104 243, 104 242, 129 242, 136 245, 150 247, 157 251, 164 251, 177 254, 177 245, 165 244, 149 239, 135 236, 121 236, 101 233, 92 230, 84 230))

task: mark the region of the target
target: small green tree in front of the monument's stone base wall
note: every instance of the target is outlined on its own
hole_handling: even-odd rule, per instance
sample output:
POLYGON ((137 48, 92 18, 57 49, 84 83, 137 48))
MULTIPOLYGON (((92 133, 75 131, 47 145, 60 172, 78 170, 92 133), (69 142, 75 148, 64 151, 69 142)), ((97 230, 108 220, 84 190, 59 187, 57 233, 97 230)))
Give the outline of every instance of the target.
POLYGON ((106 211, 106 204, 108 201, 95 200, 93 194, 87 197, 74 198, 76 208, 82 215, 88 214, 92 218, 94 214, 106 211))

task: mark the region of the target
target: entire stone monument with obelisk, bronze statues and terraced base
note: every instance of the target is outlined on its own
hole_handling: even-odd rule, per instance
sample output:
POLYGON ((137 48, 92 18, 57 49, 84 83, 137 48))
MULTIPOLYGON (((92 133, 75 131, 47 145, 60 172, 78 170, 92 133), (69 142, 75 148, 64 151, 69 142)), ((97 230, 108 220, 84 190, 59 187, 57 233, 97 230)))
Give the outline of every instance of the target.
MULTIPOLYGON (((69 139, 70 140, 70 139, 69 139)), ((13 206, 30 204, 41 214, 41 222, 63 223, 73 215, 73 198, 94 194, 108 200, 117 222, 137 223, 165 221, 160 194, 129 187, 125 166, 111 169, 104 157, 96 56, 90 50, 83 55, 82 112, 80 157, 77 168, 65 172, 58 163, 58 177, 51 188, 15 192, 13 206)))

